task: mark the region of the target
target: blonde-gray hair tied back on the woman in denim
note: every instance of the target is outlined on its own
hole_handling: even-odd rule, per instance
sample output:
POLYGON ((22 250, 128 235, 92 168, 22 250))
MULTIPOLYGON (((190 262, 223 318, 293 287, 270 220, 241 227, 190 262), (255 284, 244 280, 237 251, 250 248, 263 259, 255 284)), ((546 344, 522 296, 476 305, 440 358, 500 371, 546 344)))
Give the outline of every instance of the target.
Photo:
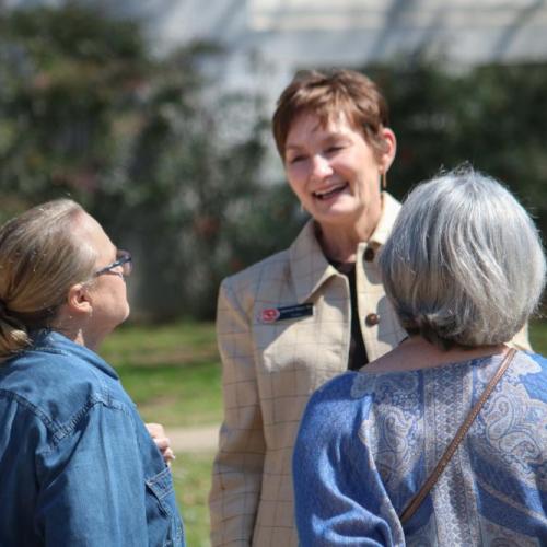
POLYGON ((70 199, 33 207, 0 228, 0 361, 49 327, 70 287, 93 276, 96 252, 74 235, 85 211, 70 199))

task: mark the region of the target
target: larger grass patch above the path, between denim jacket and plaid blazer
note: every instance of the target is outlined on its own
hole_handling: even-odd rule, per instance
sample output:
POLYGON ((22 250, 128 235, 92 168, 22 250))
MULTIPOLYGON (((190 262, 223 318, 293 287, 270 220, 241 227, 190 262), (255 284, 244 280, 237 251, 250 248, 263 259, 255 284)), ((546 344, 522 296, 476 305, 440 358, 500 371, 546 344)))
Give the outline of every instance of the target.
POLYGON ((105 340, 101 354, 116 368, 144 421, 165 427, 221 421, 213 324, 123 326, 105 340))

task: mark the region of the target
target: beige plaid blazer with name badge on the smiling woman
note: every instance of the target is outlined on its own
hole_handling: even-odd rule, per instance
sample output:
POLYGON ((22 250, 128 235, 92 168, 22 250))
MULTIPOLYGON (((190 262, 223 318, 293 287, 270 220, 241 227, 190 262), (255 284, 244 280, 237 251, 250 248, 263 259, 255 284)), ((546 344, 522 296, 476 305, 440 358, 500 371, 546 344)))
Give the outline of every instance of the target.
MULTIPOLYGON (((382 202, 356 270, 370 361, 406 336, 376 264, 400 205, 385 193, 382 202)), ((224 422, 209 498, 213 547, 298 545, 292 449, 311 394, 347 370, 350 334, 348 280, 326 260, 312 220, 289 249, 222 282, 217 335, 224 422)))

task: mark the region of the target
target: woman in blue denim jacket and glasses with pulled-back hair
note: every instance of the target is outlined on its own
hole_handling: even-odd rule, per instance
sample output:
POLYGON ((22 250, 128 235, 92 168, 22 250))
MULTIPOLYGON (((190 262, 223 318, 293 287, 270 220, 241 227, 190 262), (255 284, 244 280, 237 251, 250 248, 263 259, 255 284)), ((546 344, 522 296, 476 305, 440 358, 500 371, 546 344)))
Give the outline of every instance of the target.
POLYGON ((131 256, 68 199, 0 228, 0 545, 185 544, 171 470, 95 352, 131 256))

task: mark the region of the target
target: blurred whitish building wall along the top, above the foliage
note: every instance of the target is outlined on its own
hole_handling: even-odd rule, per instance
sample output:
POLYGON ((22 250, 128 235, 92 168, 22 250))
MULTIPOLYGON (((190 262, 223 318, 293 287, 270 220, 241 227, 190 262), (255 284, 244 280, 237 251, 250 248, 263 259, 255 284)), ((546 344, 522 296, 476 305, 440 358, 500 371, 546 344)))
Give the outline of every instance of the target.
POLYGON ((423 49, 456 67, 547 58, 547 0, 81 1, 142 20, 159 51, 221 45, 225 55, 208 66, 221 85, 269 97, 301 68, 363 67, 423 49))

